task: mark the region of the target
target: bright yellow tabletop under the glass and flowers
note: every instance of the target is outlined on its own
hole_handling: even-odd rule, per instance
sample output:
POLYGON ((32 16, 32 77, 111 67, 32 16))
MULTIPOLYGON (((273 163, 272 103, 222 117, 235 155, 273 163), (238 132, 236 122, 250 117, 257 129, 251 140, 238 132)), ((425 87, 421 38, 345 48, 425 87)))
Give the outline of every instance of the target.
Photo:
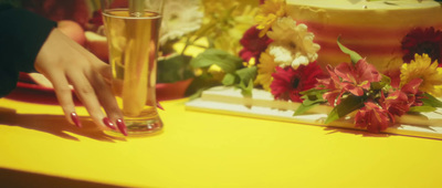
POLYGON ((119 139, 71 126, 60 106, 1 98, 0 168, 128 187, 442 187, 442 140, 192 112, 186 102, 161 102, 161 134, 119 139))

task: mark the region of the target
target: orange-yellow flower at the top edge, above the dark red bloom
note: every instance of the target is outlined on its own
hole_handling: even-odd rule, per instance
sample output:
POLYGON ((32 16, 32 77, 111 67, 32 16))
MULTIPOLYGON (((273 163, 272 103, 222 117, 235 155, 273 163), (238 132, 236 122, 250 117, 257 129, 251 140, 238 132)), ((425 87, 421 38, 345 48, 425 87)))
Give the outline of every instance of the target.
POLYGON ((260 38, 269 31, 275 20, 286 14, 285 7, 285 0, 266 0, 264 4, 260 6, 260 13, 255 17, 256 29, 261 30, 260 38))

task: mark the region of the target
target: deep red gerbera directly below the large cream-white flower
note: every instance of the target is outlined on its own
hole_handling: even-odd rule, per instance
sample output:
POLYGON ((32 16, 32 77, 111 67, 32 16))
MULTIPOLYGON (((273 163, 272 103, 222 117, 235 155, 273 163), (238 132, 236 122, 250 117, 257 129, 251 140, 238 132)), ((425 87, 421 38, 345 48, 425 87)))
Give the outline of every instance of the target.
POLYGON ((276 66, 272 74, 273 82, 270 85, 275 100, 302 102, 299 92, 313 88, 317 79, 324 76, 324 72, 316 62, 299 65, 296 70, 291 66, 285 69, 276 66))

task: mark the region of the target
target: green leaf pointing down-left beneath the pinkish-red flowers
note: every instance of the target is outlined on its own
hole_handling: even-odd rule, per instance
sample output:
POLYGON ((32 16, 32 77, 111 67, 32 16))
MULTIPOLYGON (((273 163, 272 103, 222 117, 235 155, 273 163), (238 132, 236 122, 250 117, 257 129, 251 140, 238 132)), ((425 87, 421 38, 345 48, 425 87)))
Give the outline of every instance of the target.
POLYGON ((328 114, 325 124, 329 124, 347 114, 364 107, 365 96, 348 95, 328 114))

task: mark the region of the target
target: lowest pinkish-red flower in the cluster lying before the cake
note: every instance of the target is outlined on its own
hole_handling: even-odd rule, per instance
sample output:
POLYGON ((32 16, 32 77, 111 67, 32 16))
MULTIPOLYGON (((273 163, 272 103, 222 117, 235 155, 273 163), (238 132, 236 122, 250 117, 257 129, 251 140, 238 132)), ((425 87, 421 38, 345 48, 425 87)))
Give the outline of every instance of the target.
POLYGON ((392 123, 394 123, 394 117, 373 102, 366 102, 355 116, 355 126, 367 128, 370 133, 385 130, 392 123))

